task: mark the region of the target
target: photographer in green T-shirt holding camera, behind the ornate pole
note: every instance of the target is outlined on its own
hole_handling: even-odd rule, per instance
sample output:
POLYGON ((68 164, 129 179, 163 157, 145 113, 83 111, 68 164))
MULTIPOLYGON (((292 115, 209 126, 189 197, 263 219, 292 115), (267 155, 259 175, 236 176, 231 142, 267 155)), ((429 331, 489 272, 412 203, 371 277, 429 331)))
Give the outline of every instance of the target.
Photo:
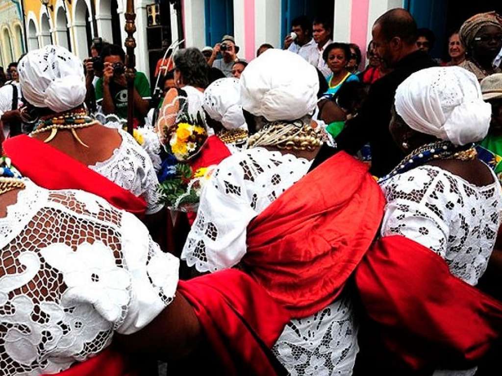
MULTIPOLYGON (((96 83, 96 102, 103 113, 127 118, 128 92, 126 79, 126 54, 121 47, 108 45, 103 48, 103 77, 96 83)), ((150 85, 143 72, 136 72, 134 79, 135 123, 143 124, 150 108, 150 85)))

